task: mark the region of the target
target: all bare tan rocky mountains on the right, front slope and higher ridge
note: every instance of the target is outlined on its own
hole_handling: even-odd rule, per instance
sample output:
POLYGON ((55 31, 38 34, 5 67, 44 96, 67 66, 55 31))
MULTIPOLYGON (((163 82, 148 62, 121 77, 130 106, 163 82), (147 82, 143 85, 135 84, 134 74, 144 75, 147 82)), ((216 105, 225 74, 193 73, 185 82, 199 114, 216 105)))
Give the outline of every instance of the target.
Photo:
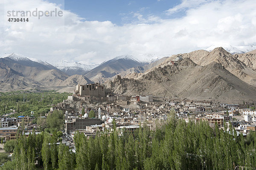
POLYGON ((172 55, 143 73, 116 77, 105 86, 109 92, 127 95, 256 99, 255 51, 252 53, 231 55, 219 47, 211 52, 172 55), (172 64, 177 58, 182 60, 172 64))

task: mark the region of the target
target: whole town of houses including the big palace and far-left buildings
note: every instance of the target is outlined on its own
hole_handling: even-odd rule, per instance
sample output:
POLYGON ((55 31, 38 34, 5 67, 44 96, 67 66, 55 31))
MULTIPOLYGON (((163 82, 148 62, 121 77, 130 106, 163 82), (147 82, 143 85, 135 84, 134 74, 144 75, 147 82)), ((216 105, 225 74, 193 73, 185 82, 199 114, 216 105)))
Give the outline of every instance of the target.
MULTIPOLYGON (((159 122, 165 122, 170 114, 176 118, 189 121, 208 121, 210 125, 224 127, 232 124, 236 130, 248 133, 256 130, 256 101, 244 101, 243 104, 224 104, 214 100, 189 100, 180 98, 159 98, 153 95, 118 95, 108 93, 100 84, 76 86, 76 91, 67 100, 52 105, 50 112, 40 118, 47 118, 54 110, 64 112, 64 133, 70 138, 79 131, 88 138, 97 132, 113 130, 113 121, 119 135, 124 130, 133 132, 140 126, 148 126, 151 130, 159 122), (98 102, 97 102, 98 101, 98 102), (76 103, 76 104, 74 104, 76 103), (84 107, 85 106, 85 107, 84 107), (251 108, 251 109, 250 109, 251 108), (90 116, 90 112, 94 116, 90 116)), ((10 115, 0 118, 0 138, 15 139, 18 127, 23 126, 26 132, 37 129, 33 124, 35 117, 10 115)))

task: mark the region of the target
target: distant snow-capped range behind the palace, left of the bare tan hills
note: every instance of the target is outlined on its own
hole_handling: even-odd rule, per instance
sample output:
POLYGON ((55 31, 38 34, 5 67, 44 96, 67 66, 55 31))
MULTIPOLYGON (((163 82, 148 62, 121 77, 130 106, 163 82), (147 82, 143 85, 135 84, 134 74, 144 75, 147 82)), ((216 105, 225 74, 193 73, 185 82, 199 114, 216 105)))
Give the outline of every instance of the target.
POLYGON ((104 82, 132 67, 148 66, 158 58, 139 61, 124 55, 102 64, 85 65, 77 62, 47 62, 17 53, 0 54, 0 91, 19 89, 61 89, 76 84, 104 82), (89 77, 89 78, 87 78, 89 77))

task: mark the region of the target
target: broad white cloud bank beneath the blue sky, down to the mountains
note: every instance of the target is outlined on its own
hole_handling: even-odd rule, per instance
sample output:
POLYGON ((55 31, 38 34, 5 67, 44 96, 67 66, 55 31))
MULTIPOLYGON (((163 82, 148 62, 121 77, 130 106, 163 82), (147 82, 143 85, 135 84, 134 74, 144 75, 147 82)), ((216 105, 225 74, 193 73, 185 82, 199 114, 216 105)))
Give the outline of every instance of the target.
MULTIPOLYGON (((60 8, 42 0, 26 3, 30 1, 8 0, 4 5, 15 10, 60 8)), ((4 27, 1 24, 0 52, 17 52, 49 62, 65 59, 89 64, 124 54, 176 54, 217 43, 249 45, 256 43, 255 9, 254 0, 183 0, 167 11, 171 16, 183 11, 183 17, 162 19, 138 12, 133 15, 139 22, 123 26, 111 21, 83 21, 65 11, 64 29, 56 17, 4 27)))

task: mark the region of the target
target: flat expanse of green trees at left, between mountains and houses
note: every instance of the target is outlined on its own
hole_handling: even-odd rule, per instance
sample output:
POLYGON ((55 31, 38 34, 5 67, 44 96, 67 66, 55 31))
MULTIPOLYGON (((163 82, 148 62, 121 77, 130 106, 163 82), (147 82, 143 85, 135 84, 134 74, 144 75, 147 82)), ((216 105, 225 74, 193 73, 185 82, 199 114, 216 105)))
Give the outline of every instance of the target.
POLYGON ((67 99, 69 93, 57 93, 53 90, 32 92, 32 91, 16 91, 0 93, 0 113, 1 115, 12 112, 15 109, 17 113, 12 117, 20 115, 34 115, 37 118, 50 111, 51 104, 57 104, 67 99), (25 95, 25 101, 23 96, 25 95), (44 97, 43 97, 44 96, 44 97))

